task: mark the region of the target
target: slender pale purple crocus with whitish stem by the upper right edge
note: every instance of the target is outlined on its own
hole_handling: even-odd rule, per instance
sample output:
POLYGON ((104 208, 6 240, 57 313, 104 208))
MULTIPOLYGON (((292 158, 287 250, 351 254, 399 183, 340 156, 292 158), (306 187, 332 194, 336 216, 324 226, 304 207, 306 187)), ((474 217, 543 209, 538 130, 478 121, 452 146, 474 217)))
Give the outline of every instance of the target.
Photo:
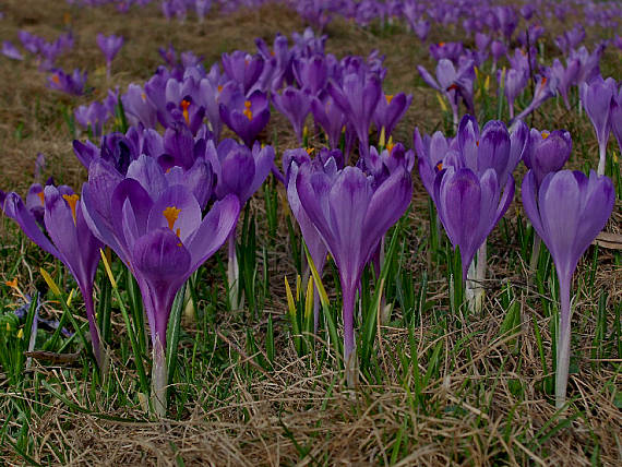
POLYGON ((603 80, 602 76, 597 76, 589 84, 583 83, 579 92, 583 107, 596 130, 599 149, 598 175, 601 176, 605 175, 607 142, 611 132, 611 101, 618 94, 618 86, 612 77, 603 80))

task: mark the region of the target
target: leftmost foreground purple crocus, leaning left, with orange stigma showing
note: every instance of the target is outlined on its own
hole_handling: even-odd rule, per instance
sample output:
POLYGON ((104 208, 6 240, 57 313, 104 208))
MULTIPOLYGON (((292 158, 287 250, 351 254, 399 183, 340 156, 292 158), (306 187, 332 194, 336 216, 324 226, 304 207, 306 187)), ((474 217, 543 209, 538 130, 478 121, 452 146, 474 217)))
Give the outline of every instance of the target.
POLYGON ((46 185, 44 191, 37 191, 36 197, 44 209, 49 239, 39 228, 33 208, 28 208, 16 193, 7 194, 4 214, 15 220, 33 242, 58 258, 75 278, 86 308, 93 354, 101 368, 105 356, 95 321, 93 282, 103 246, 88 229, 80 197, 69 187, 46 185))

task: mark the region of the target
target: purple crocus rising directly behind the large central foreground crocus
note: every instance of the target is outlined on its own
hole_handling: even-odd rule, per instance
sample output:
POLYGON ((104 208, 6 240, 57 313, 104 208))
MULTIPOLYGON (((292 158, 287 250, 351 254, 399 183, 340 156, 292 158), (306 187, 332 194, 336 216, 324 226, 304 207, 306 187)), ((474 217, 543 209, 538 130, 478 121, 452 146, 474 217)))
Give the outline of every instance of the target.
POLYGON ((342 86, 330 81, 328 93, 356 131, 364 157, 369 152, 369 127, 382 95, 380 79, 375 74, 350 73, 342 86))

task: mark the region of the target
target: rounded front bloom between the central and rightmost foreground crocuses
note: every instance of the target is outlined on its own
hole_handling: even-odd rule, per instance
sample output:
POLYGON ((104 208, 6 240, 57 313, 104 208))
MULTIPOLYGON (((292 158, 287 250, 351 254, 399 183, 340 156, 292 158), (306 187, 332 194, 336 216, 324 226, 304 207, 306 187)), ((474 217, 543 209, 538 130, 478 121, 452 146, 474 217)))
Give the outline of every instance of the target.
POLYGON ((454 248, 460 248, 463 282, 476 251, 510 207, 514 197, 514 178, 502 183, 493 169, 478 176, 471 169, 447 167, 434 180, 434 203, 439 218, 454 248))

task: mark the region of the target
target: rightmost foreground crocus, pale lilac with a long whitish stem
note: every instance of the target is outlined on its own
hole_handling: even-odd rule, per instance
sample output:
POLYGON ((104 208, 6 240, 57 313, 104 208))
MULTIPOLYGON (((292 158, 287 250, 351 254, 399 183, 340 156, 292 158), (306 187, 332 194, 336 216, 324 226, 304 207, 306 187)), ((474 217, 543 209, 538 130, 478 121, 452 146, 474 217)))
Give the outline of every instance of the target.
POLYGON ((571 344, 572 276, 578 260, 607 224, 615 193, 607 177, 590 171, 561 170, 545 177, 537 189, 536 173, 523 180, 523 206, 551 252, 560 283, 560 323, 557 346, 555 406, 566 397, 571 344))

